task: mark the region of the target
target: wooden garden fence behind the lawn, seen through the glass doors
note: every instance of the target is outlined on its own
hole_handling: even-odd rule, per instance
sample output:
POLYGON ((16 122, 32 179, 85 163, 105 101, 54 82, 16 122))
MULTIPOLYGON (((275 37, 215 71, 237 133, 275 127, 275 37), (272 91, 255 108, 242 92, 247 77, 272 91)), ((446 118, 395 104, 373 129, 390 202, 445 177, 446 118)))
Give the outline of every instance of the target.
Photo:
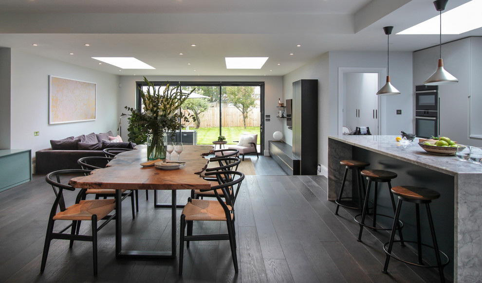
MULTIPOLYGON (((248 112, 246 118, 247 127, 259 127, 260 126, 260 108, 256 107, 248 112)), ((219 127, 219 106, 213 106, 207 108, 206 111, 199 115, 201 120, 201 128, 205 127, 219 127)), ((189 123, 189 127, 195 127, 196 123, 189 123)), ((234 106, 222 107, 222 126, 223 127, 242 127, 242 115, 241 111, 234 106)))

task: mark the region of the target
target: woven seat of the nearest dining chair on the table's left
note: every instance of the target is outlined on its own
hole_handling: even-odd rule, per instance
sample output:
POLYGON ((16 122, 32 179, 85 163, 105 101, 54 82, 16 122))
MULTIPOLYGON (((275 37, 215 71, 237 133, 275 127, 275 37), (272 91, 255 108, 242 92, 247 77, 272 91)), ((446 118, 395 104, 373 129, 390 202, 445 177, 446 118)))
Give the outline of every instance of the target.
POLYGON ((65 211, 58 212, 54 220, 91 220, 92 215, 97 215, 97 221, 101 220, 115 210, 114 199, 81 200, 79 203, 69 206, 65 211))

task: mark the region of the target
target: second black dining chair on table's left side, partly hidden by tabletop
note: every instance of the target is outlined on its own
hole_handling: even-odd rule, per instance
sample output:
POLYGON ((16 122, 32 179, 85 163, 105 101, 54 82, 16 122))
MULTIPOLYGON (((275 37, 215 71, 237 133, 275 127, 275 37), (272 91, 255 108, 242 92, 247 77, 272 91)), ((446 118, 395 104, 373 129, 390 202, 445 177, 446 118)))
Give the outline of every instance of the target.
MULTIPOLYGON (((111 157, 102 157, 102 156, 90 156, 90 157, 83 157, 77 160, 77 163, 82 167, 84 170, 95 170, 100 168, 105 168, 107 163, 111 161, 113 158, 111 157), (95 165, 94 165, 95 164, 95 165)), ((135 212, 134 212, 134 196, 136 196, 135 202, 138 204, 139 201, 137 200, 137 195, 134 194, 135 190, 121 190, 122 191, 122 199, 126 199, 130 196, 130 205, 132 207, 132 219, 135 219, 135 212)), ((85 192, 86 195, 95 195, 95 199, 99 199, 100 197, 115 197, 115 190, 114 189, 87 189, 85 192)), ((136 207, 135 211, 139 211, 139 207, 136 207)))

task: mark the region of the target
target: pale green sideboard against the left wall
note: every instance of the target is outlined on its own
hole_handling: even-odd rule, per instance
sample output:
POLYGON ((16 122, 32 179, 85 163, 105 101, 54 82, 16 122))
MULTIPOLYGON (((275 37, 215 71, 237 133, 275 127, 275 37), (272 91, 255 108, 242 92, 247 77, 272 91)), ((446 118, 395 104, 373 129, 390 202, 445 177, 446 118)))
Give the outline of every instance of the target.
POLYGON ((31 180, 31 150, 0 149, 0 192, 31 180))

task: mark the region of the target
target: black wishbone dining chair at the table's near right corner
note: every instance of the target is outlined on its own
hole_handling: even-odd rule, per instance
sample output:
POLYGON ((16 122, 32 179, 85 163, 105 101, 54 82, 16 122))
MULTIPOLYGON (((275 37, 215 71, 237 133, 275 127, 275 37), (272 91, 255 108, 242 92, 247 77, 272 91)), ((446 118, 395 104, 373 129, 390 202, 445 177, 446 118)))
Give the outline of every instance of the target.
MULTIPOLYGON (((183 274, 184 261, 184 242, 189 248, 190 241, 210 241, 210 240, 229 240, 231 254, 233 257, 234 271, 238 273, 238 257, 236 255, 236 230, 234 205, 238 196, 244 174, 237 171, 216 171, 206 173, 206 176, 216 177, 218 185, 211 186, 210 189, 201 190, 203 192, 213 191, 216 200, 192 199, 188 198, 181 214, 181 234, 179 243, 179 275, 183 274), (229 178, 226 176, 229 175, 229 178), (222 190, 223 197, 218 193, 222 190), (193 221, 225 221, 228 233, 213 235, 193 235, 193 221), (187 225, 187 235, 185 228, 187 225)), ((202 263, 209 264, 209 262, 202 263)))

